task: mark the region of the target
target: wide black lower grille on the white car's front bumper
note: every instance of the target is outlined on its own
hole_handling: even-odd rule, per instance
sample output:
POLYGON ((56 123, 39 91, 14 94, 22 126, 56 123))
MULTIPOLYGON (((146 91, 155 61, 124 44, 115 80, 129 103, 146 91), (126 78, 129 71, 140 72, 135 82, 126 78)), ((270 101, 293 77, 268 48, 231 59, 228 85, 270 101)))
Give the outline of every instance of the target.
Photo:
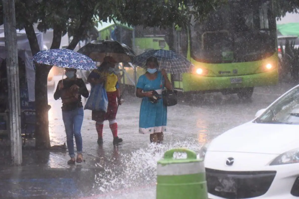
POLYGON ((275 175, 276 171, 228 172, 206 168, 208 192, 228 199, 264 195, 275 175))

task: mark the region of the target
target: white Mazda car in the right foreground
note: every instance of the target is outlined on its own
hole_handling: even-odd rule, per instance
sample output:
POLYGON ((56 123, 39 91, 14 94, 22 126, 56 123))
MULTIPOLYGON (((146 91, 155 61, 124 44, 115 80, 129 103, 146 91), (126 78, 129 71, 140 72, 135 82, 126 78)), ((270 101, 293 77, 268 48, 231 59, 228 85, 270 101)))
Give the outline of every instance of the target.
POLYGON ((200 150, 210 199, 299 197, 299 85, 200 150))

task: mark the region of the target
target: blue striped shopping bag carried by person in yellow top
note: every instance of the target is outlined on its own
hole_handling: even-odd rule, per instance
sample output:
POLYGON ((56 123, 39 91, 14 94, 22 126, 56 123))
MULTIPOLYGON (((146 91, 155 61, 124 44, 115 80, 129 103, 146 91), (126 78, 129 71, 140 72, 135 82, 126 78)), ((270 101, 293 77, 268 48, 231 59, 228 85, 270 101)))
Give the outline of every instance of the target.
POLYGON ((96 84, 91 87, 90 95, 84 106, 84 110, 104 111, 107 112, 108 97, 104 84, 96 84))

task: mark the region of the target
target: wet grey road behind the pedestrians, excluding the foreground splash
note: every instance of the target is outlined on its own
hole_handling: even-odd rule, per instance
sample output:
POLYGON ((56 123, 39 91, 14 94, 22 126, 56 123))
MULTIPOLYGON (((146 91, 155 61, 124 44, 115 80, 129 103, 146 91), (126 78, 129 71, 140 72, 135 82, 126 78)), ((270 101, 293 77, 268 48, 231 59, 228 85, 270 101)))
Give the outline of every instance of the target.
MULTIPOLYGON (((164 140, 166 143, 170 143, 196 139, 199 144, 203 144, 232 127, 250 121, 259 109, 266 108, 289 88, 290 86, 256 88, 251 101, 241 101, 236 95, 221 94, 187 96, 188 99, 181 97, 178 105, 168 107, 168 132, 165 133, 164 140)), ((48 98, 49 104, 52 106, 49 111, 51 144, 61 144, 65 140, 60 109, 61 101, 54 101, 53 92, 48 93, 48 98)), ((141 100, 132 95, 125 95, 124 100, 123 105, 119 107, 117 121, 119 137, 124 139, 121 151, 126 153, 147 146, 149 136, 138 134, 141 100)), ((82 131, 85 142, 96 143, 97 133, 89 110, 85 110, 82 131)), ((104 148, 109 149, 111 143, 112 134, 108 122, 105 122, 104 148)), ((97 148, 96 144, 95 146, 85 146, 86 150, 97 148)))

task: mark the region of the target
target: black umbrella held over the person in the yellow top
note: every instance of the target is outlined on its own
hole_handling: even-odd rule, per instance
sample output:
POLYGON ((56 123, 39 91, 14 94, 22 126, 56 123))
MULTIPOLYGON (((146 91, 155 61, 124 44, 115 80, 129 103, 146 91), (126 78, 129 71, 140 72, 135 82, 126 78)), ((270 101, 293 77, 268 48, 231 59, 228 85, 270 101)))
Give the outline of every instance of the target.
POLYGON ((106 56, 113 57, 118 63, 132 62, 135 56, 134 51, 126 44, 110 40, 91 41, 80 48, 78 53, 89 56, 93 61, 98 62, 103 62, 106 56))

